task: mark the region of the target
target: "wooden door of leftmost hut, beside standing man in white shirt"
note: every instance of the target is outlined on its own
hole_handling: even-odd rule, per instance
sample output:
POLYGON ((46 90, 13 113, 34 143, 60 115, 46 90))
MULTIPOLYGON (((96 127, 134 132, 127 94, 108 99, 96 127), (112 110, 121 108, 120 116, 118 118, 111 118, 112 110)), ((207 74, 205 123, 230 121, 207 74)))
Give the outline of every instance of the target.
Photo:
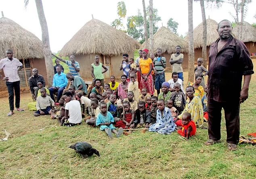
POLYGON ((19 78, 21 87, 29 86, 28 79, 32 76, 32 67, 29 59, 19 60, 23 64, 23 68, 19 70, 19 78))

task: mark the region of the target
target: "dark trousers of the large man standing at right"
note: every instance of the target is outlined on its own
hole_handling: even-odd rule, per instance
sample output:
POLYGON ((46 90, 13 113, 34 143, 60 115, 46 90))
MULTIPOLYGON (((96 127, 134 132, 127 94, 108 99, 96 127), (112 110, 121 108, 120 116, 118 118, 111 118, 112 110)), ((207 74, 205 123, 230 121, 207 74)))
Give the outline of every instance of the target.
POLYGON ((208 99, 208 135, 212 140, 220 140, 221 109, 225 113, 227 142, 238 144, 240 134, 240 101, 239 98, 228 102, 217 102, 208 99))

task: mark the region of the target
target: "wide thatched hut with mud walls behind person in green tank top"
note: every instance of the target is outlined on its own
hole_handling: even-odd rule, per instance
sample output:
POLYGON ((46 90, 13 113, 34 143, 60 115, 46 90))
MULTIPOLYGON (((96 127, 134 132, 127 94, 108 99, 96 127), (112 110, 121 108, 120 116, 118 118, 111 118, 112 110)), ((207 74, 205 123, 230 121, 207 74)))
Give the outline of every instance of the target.
POLYGON ((91 64, 94 56, 99 55, 101 63, 109 70, 104 73, 105 78, 111 75, 120 76, 119 70, 122 54, 128 53, 134 57, 134 51, 141 47, 140 43, 122 31, 97 19, 88 21, 61 49, 61 56, 75 55, 80 64, 80 76, 91 79, 91 64))

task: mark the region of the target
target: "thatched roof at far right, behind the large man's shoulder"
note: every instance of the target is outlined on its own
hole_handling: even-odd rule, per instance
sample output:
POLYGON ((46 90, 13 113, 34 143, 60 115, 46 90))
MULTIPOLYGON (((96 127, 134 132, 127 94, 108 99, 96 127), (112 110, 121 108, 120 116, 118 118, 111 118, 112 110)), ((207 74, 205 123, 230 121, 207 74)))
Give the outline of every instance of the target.
MULTIPOLYGON (((233 28, 233 33, 236 37, 239 37, 238 32, 240 31, 241 25, 238 24, 236 27, 233 28)), ((250 25, 248 22, 243 21, 243 33, 242 39, 243 42, 256 42, 256 28, 250 25)))

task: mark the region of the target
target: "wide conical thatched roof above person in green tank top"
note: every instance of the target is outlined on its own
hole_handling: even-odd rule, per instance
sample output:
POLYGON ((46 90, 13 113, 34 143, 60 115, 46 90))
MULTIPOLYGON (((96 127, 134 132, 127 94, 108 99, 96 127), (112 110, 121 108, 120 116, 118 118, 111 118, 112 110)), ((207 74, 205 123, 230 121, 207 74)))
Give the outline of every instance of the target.
POLYGON ((140 48, 140 43, 97 19, 88 21, 61 49, 61 56, 101 53, 120 55, 140 48))

